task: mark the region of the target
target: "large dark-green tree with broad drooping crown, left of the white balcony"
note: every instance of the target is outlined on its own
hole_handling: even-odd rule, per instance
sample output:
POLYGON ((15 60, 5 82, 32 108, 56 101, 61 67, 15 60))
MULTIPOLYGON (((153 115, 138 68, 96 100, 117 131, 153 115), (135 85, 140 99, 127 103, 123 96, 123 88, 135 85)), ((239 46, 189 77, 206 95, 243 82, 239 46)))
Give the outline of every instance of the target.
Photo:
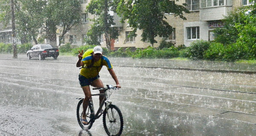
POLYGON ((157 41, 155 37, 169 37, 172 26, 166 22, 165 13, 172 13, 186 20, 183 12, 189 13, 186 4, 176 5, 170 0, 114 0, 118 3, 116 12, 122 16, 122 23, 128 20, 133 31, 129 36, 137 36, 137 29, 143 30, 142 41, 150 41, 153 46, 157 41))

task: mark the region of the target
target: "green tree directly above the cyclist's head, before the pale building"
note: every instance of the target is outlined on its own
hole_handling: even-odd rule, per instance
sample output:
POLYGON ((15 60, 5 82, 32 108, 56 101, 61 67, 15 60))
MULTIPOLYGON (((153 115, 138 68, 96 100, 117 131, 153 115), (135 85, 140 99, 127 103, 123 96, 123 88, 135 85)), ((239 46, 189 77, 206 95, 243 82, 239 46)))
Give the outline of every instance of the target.
POLYGON ((87 6, 87 12, 95 15, 95 18, 91 19, 94 23, 87 36, 91 42, 96 42, 98 36, 104 33, 108 50, 111 48, 111 39, 116 39, 119 35, 117 28, 113 27, 116 24, 113 16, 109 14, 115 7, 113 0, 91 0, 87 6))

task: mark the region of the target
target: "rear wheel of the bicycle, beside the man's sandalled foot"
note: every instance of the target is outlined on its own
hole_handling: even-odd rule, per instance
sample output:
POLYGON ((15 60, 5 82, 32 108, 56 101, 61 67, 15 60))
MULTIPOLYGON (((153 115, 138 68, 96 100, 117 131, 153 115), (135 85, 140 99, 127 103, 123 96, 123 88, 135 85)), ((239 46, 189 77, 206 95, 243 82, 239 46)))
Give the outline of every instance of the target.
POLYGON ((77 121, 78 121, 78 124, 80 125, 80 127, 83 130, 89 130, 93 126, 93 122, 94 122, 93 121, 93 113, 90 110, 91 106, 88 106, 85 114, 86 114, 86 119, 89 122, 89 125, 84 125, 81 122, 81 117, 82 117, 82 114, 83 114, 83 101, 84 101, 84 99, 80 99, 80 101, 78 102, 78 105, 77 105, 77 108, 76 108, 76 117, 77 117, 77 121))

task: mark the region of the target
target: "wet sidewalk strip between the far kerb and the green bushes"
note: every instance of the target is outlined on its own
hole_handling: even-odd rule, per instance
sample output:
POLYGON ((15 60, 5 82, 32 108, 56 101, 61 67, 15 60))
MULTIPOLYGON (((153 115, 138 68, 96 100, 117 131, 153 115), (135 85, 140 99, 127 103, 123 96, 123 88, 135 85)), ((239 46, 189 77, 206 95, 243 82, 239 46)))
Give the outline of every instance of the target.
MULTIPOLYGON (((0 59, 12 59, 12 54, 0 54, 0 59)), ((27 60, 26 54, 18 54, 18 60, 27 60)), ((109 57, 113 66, 119 67, 145 67, 165 68, 189 71, 210 71, 222 73, 256 74, 256 64, 235 62, 211 62, 192 60, 170 60, 170 59, 132 59, 109 57)), ((36 60, 36 59, 35 59, 36 60)), ((53 60, 47 58, 46 60, 53 60)), ((39 60, 38 60, 39 61, 39 60)), ((55 62, 76 63, 76 56, 59 56, 55 62)))

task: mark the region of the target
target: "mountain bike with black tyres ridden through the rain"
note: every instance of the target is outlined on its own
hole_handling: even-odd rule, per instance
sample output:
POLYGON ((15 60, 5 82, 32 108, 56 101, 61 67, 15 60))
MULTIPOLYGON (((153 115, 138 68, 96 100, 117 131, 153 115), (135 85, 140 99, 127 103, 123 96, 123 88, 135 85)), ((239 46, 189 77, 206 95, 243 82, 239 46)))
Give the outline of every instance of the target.
POLYGON ((116 88, 116 86, 113 86, 113 85, 107 85, 106 88, 93 88, 93 90, 104 90, 104 93, 92 94, 92 96, 103 95, 104 100, 100 104, 99 109, 95 114, 93 99, 90 98, 89 105, 85 113, 86 119, 89 123, 88 126, 84 125, 81 122, 84 98, 83 97, 76 98, 76 99, 80 99, 76 108, 76 116, 77 116, 78 123, 83 130, 89 130, 92 127, 93 122, 96 119, 99 119, 99 117, 103 114, 103 126, 108 136, 120 136, 122 134, 122 130, 123 130, 122 113, 120 109, 116 105, 113 105, 112 102, 109 100, 112 94, 112 90, 114 89, 116 90, 119 88, 116 88), (103 105, 105 105, 105 110, 103 111, 103 113, 100 113, 103 105))

